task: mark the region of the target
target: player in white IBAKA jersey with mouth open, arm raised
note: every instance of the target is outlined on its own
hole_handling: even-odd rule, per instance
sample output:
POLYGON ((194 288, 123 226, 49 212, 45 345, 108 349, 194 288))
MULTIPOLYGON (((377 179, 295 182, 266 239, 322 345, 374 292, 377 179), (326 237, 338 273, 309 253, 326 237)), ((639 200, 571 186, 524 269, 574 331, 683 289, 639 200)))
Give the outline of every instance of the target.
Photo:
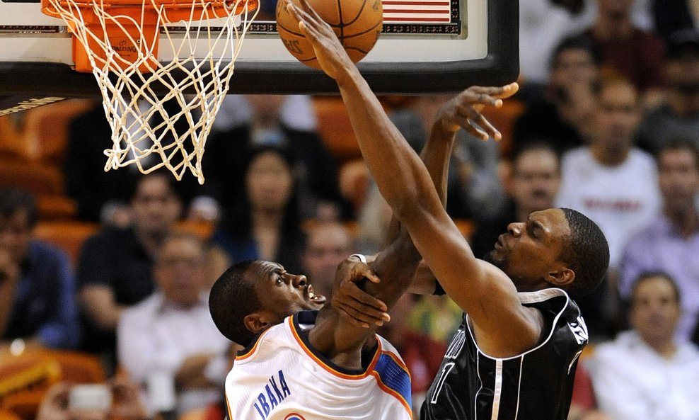
MULTIPOLYGON (((495 101, 467 89, 451 106, 495 101)), ((438 124, 453 124, 454 115, 442 114, 438 124)), ((495 135, 497 130, 488 127, 495 135)), ((422 153, 441 205, 452 146, 430 137, 422 153)), ((420 259, 401 229, 371 268, 354 258, 338 267, 338 280, 358 281, 370 295, 333 298, 325 307, 305 276, 287 273, 277 263, 243 261, 226 270, 212 287, 209 309, 221 333, 245 346, 226 380, 231 420, 412 419, 410 375, 395 349, 373 333, 376 325, 368 327, 405 292, 420 259), (304 310, 318 311, 307 329, 294 323, 308 316, 304 310)))

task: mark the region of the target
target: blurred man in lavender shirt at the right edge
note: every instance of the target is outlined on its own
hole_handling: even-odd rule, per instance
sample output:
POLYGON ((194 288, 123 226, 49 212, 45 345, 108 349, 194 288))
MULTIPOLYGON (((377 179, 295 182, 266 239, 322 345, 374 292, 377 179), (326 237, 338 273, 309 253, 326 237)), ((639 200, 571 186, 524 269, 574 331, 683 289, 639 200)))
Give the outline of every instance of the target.
POLYGON ((677 339, 691 338, 699 317, 699 150, 688 140, 674 140, 657 155, 662 212, 624 249, 619 291, 628 299, 633 281, 644 271, 669 273, 682 292, 677 339))

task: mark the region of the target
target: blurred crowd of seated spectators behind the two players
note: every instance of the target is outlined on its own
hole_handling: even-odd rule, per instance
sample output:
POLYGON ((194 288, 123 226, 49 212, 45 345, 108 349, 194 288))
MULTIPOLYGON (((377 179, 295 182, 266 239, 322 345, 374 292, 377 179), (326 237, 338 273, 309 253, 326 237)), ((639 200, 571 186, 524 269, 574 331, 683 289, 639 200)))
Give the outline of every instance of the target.
MULTIPOLYGON (((697 420, 698 2, 522 0, 520 12, 521 112, 500 143, 458 133, 447 210, 468 221, 476 256, 530 212, 591 217, 611 261, 578 302, 592 346, 570 419, 697 420)), ((447 98, 382 99, 419 150, 447 98)), ((214 327, 207 292, 229 264, 277 261, 330 296, 342 259, 383 246, 390 209, 361 164, 333 155, 311 97, 226 97, 204 185, 105 173, 101 104, 71 120, 68 139, 67 194, 76 218, 100 231, 74 265, 33 237, 33 194, 0 191, 0 361, 32 348, 91 353, 110 378, 136 384, 144 409, 134 412, 222 419, 238 347, 214 327), (181 220, 212 234, 179 232, 181 220)), ((416 407, 460 322, 447 297, 407 295, 383 327, 410 368, 416 407)))

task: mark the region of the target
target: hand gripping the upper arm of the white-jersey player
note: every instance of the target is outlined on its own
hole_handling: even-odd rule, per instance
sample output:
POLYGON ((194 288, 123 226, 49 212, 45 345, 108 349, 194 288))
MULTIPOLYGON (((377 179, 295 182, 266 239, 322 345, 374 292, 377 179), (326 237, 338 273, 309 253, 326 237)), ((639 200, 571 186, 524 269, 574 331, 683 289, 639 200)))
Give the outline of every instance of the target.
POLYGON ((357 327, 369 328, 371 325, 383 325, 391 319, 386 311, 388 307, 381 300, 364 292, 357 282, 369 280, 379 283, 380 279, 365 263, 345 259, 337 267, 335 290, 332 305, 336 310, 349 315, 350 322, 357 327))

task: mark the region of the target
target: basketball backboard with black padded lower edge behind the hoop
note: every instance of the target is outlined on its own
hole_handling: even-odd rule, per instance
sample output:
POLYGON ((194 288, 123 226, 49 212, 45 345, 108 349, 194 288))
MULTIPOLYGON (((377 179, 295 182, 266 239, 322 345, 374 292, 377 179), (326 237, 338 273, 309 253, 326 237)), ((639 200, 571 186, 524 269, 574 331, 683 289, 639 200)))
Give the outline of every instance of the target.
MULTIPOLYGON (((381 38, 358 64, 376 93, 453 92, 519 74, 516 1, 383 0, 383 8, 381 38)), ((0 0, 0 115, 99 96, 92 74, 71 69, 70 37, 63 21, 41 13, 38 0, 0 0)), ((287 52, 274 21, 258 19, 245 35, 229 92, 336 93, 337 86, 287 52)))

